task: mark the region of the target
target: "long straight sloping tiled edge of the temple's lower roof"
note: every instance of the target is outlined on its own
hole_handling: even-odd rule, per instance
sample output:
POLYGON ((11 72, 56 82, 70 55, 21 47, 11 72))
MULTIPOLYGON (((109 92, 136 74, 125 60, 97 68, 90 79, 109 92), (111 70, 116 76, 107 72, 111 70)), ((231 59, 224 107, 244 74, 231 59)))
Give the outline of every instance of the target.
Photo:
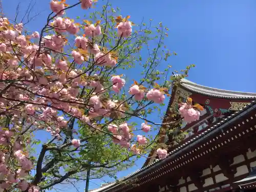
MULTIPOLYGON (((202 141, 203 139, 205 139, 205 137, 208 137, 209 134, 214 134, 216 132, 218 132, 220 129, 223 129, 223 127, 225 127, 226 125, 228 125, 230 122, 242 117, 243 115, 249 113, 252 110, 256 110, 256 102, 252 101, 250 104, 248 104, 247 106, 245 106, 244 109, 241 109, 240 111, 234 112, 232 115, 222 119, 220 122, 216 123, 215 125, 212 125, 211 127, 209 127, 208 129, 206 129, 204 132, 202 132, 200 135, 196 136, 195 138, 190 139, 189 141, 187 141, 186 143, 184 143, 183 145, 177 147, 176 149, 174 149, 172 152, 168 153, 168 157, 164 160, 160 160, 160 159, 156 159, 155 162, 148 164, 147 166, 138 169, 136 172, 132 173, 129 176, 126 176, 124 178, 122 178, 120 181, 125 181, 128 180, 132 177, 134 177, 135 175, 141 175, 143 173, 148 172, 150 169, 152 169, 154 167, 154 165, 160 165, 166 161, 168 161, 170 158, 172 158, 174 155, 177 155, 177 153, 181 153, 183 150, 185 150, 188 147, 191 147, 195 144, 197 144, 198 142, 202 141)), ((91 192, 103 192, 103 191, 107 191, 115 186, 118 186, 119 183, 112 183, 110 185, 92 190, 91 192)))

